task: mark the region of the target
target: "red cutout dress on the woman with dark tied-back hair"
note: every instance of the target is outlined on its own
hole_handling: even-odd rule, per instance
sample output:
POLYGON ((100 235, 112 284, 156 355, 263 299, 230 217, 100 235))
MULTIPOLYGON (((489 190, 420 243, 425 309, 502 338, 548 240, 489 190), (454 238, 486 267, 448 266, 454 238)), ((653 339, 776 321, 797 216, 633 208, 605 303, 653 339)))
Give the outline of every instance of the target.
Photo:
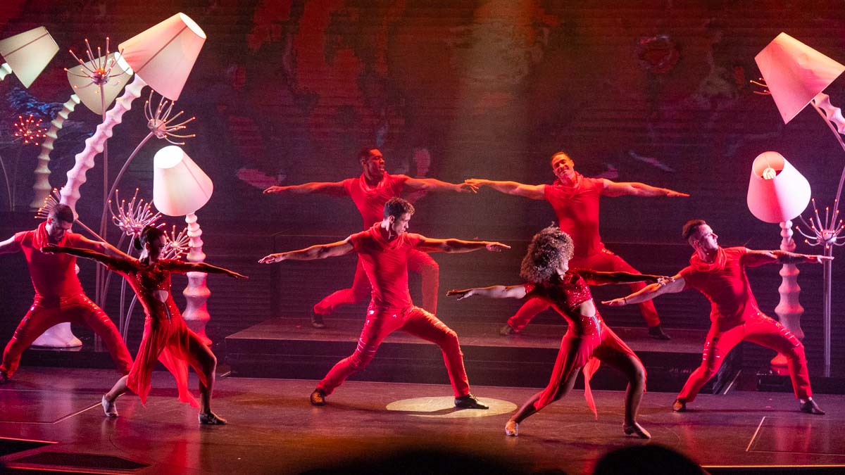
POLYGON ((194 352, 194 346, 202 345, 194 331, 188 328, 176 303, 173 301, 170 285, 172 272, 184 274, 192 269, 187 263, 175 259, 159 259, 144 263, 139 259, 108 259, 109 269, 122 275, 138 296, 144 308, 144 336, 135 362, 129 371, 127 386, 145 403, 150 392, 150 377, 155 361, 159 360, 176 378, 179 401, 199 407, 199 403, 188 391, 188 364, 194 367, 201 384, 205 385, 202 366, 194 352), (156 297, 157 292, 166 292, 164 302, 156 297))

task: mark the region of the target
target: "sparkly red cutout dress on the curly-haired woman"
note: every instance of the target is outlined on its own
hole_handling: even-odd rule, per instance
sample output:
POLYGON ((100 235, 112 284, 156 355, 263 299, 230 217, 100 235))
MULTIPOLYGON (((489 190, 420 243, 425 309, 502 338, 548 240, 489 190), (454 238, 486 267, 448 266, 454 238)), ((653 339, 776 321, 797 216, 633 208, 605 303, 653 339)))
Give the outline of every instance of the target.
MULTIPOLYGON (((539 411, 554 401, 558 394, 560 385, 570 379, 571 375, 584 369, 584 397, 587 405, 594 414, 596 403, 593 401, 590 390, 590 378, 598 369, 603 359, 608 363, 620 354, 630 355, 637 358, 634 351, 622 341, 613 330, 604 325, 602 316, 584 315, 579 311, 578 306, 592 299, 590 287, 578 273, 577 270, 570 270, 559 279, 559 281, 543 284, 524 284, 526 298, 540 298, 547 302, 561 314, 569 323, 569 328, 562 341, 558 358, 554 362, 552 379, 541 391, 534 407, 539 411)), ((638 358, 639 359, 639 358, 638 358)))

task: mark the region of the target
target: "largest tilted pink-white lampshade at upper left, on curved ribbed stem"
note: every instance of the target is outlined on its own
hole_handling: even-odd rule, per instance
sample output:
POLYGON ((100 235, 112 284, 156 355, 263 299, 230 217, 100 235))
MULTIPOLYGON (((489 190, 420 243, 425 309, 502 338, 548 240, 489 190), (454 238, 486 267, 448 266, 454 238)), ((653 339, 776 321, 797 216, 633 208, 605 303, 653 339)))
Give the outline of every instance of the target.
POLYGON ((123 41, 118 49, 139 78, 176 101, 204 42, 205 33, 193 19, 175 14, 123 41))

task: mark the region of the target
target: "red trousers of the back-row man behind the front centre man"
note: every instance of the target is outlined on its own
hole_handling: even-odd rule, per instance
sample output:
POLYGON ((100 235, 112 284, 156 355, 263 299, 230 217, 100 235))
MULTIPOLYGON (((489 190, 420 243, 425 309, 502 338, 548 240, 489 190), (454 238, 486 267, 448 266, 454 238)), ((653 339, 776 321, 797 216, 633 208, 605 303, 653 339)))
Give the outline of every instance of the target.
MULTIPOLYGON (((440 267, 430 255, 422 251, 411 251, 408 254, 408 270, 423 277, 423 308, 437 314, 437 292, 440 285, 440 267)), ((314 313, 318 315, 330 315, 341 305, 347 303, 359 303, 369 300, 372 287, 370 287, 367 273, 364 272, 361 258, 358 258, 355 278, 352 279, 352 287, 331 293, 328 297, 314 305, 314 313)))

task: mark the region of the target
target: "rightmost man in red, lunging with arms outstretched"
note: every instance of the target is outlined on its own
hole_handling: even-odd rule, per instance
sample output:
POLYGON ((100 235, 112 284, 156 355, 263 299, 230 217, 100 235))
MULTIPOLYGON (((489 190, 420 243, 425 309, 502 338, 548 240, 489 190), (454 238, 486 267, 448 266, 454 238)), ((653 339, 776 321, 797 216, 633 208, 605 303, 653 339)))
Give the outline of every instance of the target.
POLYGON ((665 286, 651 285, 627 297, 603 302, 619 307, 689 288, 694 288, 710 300, 711 325, 704 343, 701 366, 690 374, 690 379, 687 379, 684 389, 672 405, 673 410, 686 411, 687 402, 695 401, 701 386, 717 373, 728 352, 739 342, 750 341, 771 348, 787 358, 793 391, 800 401, 802 412, 824 414, 813 401, 804 345, 783 325, 760 312, 757 300, 751 293, 745 267, 775 263, 820 264, 833 258, 786 251, 755 251, 742 247, 722 248, 717 242, 716 233, 703 220, 688 221, 684 225, 683 235, 695 249, 695 254, 690 258, 690 265, 674 276, 673 281, 665 286))

